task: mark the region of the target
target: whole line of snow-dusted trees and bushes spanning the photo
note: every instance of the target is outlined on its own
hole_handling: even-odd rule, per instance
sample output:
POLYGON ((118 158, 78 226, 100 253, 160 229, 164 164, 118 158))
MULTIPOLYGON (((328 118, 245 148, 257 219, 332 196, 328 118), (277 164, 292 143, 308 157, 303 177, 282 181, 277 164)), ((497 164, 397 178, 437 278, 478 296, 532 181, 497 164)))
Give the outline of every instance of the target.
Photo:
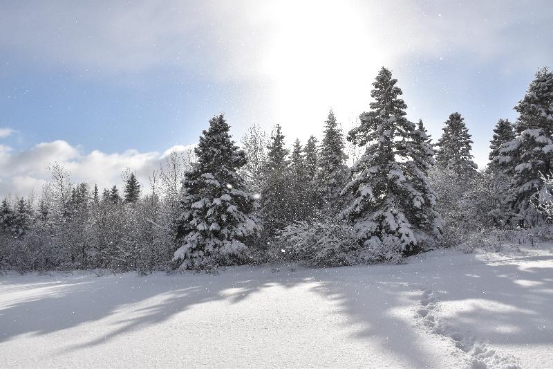
POLYGON ((347 134, 330 110, 321 142, 288 147, 280 125, 252 126, 236 145, 223 114, 194 152, 173 152, 142 195, 135 174, 100 189, 71 183, 62 165, 37 206, 4 199, 0 267, 118 271, 209 269, 301 261, 312 266, 398 260, 468 233, 550 221, 553 73, 541 69, 500 119, 489 165, 478 170, 458 112, 435 143, 406 118, 391 71, 382 68, 368 111, 347 134), (359 150, 348 165, 346 144, 359 150), (549 201, 549 202, 547 202, 549 201))

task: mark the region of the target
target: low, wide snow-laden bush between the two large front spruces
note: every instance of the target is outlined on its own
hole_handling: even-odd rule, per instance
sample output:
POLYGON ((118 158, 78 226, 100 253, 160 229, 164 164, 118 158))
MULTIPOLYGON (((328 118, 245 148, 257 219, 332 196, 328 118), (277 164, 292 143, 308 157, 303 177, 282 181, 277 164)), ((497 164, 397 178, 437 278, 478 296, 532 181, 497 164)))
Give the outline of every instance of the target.
POLYGON ((398 262, 401 255, 386 244, 362 246, 353 226, 336 219, 296 222, 279 231, 277 240, 288 260, 308 267, 339 267, 398 262))

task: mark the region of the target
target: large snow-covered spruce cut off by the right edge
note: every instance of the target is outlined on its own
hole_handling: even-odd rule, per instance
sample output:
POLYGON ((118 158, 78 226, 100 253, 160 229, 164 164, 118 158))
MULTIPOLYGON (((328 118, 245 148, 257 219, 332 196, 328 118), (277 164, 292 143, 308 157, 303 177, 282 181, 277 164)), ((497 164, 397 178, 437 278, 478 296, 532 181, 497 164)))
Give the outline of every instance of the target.
POLYGON ((509 163, 514 170, 516 197, 512 205, 517 222, 534 226, 541 222, 532 199, 543 186, 543 175, 553 165, 553 73, 543 68, 529 84, 524 98, 514 108, 518 112, 516 137, 500 147, 498 163, 509 163))

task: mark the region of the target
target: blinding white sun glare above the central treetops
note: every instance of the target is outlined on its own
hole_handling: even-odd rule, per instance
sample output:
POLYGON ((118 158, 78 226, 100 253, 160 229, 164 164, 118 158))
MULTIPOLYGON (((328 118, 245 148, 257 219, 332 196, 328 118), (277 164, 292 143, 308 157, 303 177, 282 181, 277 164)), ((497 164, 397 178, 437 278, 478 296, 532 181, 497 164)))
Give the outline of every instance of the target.
POLYGON ((305 139, 319 134, 330 107, 346 125, 367 109, 382 53, 355 4, 294 1, 265 10, 273 31, 261 71, 285 132, 305 139))

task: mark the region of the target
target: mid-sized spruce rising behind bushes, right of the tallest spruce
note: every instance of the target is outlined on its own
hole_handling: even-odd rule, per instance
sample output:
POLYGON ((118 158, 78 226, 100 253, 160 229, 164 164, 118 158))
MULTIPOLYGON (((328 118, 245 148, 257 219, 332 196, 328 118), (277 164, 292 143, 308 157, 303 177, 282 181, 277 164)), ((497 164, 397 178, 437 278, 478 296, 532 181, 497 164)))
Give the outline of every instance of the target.
POLYGON ((471 155, 472 140, 465 119, 459 113, 449 115, 444 122, 442 137, 436 145, 440 147, 436 153, 436 163, 439 168, 449 168, 461 178, 471 178, 476 174, 477 165, 471 155))

